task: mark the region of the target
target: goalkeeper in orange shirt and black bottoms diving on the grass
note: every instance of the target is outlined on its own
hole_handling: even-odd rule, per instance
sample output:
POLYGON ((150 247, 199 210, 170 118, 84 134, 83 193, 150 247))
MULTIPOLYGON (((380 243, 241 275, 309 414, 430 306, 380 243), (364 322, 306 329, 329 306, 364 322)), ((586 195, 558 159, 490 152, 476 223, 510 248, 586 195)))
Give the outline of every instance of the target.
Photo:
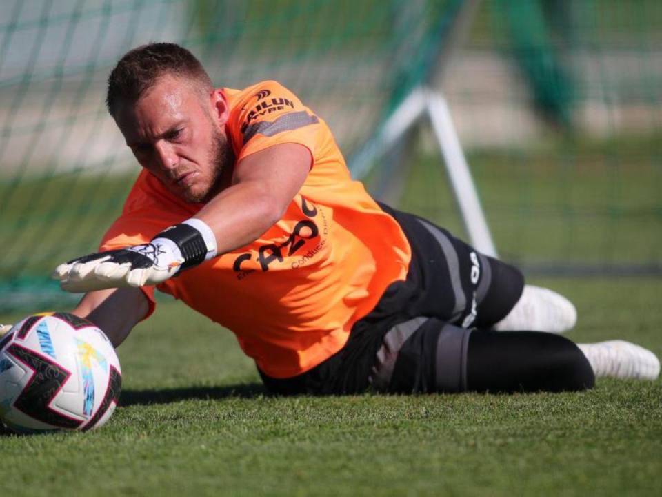
POLYGON ((99 253, 60 264, 117 347, 154 287, 237 335, 277 393, 564 391, 656 378, 628 342, 576 345, 568 300, 352 181, 325 122, 265 81, 214 88, 170 43, 128 52, 108 110, 142 166, 99 253))

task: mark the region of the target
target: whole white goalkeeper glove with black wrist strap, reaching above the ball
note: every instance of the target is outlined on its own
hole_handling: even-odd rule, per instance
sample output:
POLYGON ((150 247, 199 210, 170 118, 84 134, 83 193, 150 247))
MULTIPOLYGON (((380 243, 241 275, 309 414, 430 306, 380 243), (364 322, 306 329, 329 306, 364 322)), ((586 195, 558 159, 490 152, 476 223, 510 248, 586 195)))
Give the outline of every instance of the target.
POLYGON ((78 293, 123 286, 154 285, 216 255, 216 237, 192 218, 156 235, 148 244, 99 252, 60 264, 52 277, 78 293))

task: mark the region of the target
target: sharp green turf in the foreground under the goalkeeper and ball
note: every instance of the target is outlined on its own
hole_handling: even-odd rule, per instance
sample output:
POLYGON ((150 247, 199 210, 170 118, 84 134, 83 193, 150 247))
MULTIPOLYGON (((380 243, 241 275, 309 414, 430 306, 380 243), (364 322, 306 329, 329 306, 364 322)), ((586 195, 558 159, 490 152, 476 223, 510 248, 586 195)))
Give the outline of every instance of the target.
MULTIPOLYGON (((574 340, 627 338, 662 355, 659 280, 535 282, 574 300, 574 340)), ((122 405, 106 427, 0 436, 3 494, 662 491, 660 380, 599 380, 585 393, 274 398, 228 331, 170 299, 119 356, 122 405)))

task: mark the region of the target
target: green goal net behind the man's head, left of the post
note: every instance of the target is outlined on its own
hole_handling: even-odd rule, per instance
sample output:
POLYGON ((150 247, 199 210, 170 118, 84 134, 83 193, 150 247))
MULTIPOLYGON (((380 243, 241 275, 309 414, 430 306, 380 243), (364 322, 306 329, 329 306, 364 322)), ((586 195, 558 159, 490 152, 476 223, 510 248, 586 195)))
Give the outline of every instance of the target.
MULTIPOLYGON (((137 165, 103 106, 126 50, 175 41, 218 86, 277 79, 323 116, 347 153, 419 84, 461 1, 34 1, 0 21, 3 302, 93 251, 137 165)), ((25 292, 23 292, 25 290, 25 292)), ((43 292, 42 292, 43 293, 43 292)))

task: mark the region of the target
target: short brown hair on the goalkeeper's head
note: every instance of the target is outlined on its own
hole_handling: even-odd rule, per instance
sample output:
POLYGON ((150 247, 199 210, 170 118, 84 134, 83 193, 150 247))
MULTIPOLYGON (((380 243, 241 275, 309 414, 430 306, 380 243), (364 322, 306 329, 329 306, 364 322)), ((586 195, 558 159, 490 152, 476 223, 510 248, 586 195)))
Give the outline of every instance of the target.
POLYGON ((115 115, 118 101, 137 101, 165 74, 188 77, 205 90, 213 88, 207 71, 191 52, 175 43, 149 43, 126 52, 110 72, 106 95, 110 115, 115 115))

